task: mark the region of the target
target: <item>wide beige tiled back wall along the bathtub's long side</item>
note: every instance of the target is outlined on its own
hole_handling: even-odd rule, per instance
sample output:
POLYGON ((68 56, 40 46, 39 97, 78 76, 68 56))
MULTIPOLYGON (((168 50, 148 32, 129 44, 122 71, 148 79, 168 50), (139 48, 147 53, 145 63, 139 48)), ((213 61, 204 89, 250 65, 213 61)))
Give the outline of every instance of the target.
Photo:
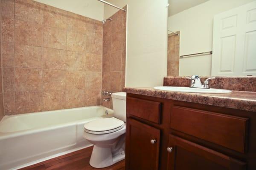
MULTIPOLYGON (((5 115, 101 104, 102 23, 32 0, 0 1, 5 115)), ((108 38, 121 43, 121 30, 108 38)), ((120 91, 122 69, 104 71, 120 91)))

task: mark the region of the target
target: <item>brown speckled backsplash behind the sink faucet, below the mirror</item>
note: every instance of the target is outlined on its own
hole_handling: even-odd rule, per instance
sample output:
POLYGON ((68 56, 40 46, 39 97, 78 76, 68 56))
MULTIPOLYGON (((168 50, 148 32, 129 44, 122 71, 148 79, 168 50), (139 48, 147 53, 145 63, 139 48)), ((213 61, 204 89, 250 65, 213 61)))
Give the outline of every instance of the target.
MULTIPOLYGON (((209 78, 209 76, 202 76, 201 82, 209 78)), ((190 86, 191 80, 186 77, 165 77, 163 79, 163 86, 190 86)), ((210 88, 228 89, 237 91, 256 92, 256 77, 215 77, 209 80, 210 88)))

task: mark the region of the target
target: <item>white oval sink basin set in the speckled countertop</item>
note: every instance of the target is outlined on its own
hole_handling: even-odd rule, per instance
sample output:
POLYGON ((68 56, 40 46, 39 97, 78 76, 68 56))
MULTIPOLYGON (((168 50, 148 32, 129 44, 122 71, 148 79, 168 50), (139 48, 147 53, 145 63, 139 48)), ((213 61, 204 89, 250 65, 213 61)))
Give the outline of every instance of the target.
POLYGON ((225 89, 200 89, 191 87, 175 87, 175 86, 157 86, 154 87, 157 90, 165 90, 172 92, 191 92, 191 93, 231 93, 230 90, 225 89))

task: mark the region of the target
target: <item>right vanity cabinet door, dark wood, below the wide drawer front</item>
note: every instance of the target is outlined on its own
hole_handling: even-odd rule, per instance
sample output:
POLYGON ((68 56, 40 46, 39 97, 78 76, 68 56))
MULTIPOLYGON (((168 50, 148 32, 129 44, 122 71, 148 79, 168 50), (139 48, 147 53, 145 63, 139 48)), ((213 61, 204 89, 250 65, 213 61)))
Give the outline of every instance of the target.
POLYGON ((246 164, 209 148, 169 135, 168 170, 245 170, 246 164))

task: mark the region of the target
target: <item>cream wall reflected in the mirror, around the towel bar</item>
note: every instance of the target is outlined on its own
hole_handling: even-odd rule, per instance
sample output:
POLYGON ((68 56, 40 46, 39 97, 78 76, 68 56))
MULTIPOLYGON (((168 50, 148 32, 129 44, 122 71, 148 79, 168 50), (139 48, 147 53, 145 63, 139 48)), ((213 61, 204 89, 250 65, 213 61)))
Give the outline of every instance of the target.
MULTIPOLYGON (((180 55, 212 51, 215 14, 250 3, 253 0, 209 0, 168 18, 168 28, 180 31, 180 55)), ((180 59, 180 76, 211 75, 212 56, 180 59)))

